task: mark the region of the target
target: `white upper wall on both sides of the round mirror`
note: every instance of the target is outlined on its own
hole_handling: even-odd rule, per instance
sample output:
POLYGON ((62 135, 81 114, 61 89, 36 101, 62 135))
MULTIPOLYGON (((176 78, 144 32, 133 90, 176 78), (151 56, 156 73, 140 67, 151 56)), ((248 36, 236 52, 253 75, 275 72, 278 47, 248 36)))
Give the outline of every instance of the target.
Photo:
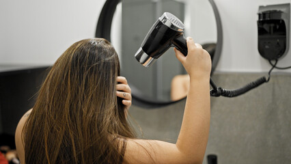
MULTIPOLYGON (((214 1, 223 26, 223 51, 217 71, 267 72, 271 66, 257 49, 258 8, 290 0, 214 1)), ((1 1, 0 64, 53 64, 72 43, 94 37, 104 3, 105 0, 1 1)), ((291 51, 278 61, 278 66, 291 66, 291 51)))

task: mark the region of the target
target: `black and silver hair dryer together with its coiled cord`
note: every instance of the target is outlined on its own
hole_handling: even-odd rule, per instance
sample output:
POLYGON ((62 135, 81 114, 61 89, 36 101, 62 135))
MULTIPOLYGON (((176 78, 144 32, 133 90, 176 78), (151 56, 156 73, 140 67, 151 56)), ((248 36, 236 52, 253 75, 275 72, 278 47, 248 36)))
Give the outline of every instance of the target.
MULTIPOLYGON (((154 64, 154 61, 158 59, 165 51, 170 47, 176 47, 182 54, 187 55, 186 38, 184 38, 184 24, 176 16, 169 12, 165 12, 156 23, 152 26, 146 38, 144 38, 141 47, 135 53, 135 58, 143 66, 149 67, 154 64)), ((270 76, 270 74, 269 74, 270 76)), ((270 77, 268 78, 268 80, 270 77)), ((210 91, 211 96, 225 96, 234 97, 240 94, 258 87, 262 83, 268 82, 265 77, 253 81, 244 87, 236 90, 225 90, 221 87, 217 87, 210 78, 210 84, 213 90, 210 91)))

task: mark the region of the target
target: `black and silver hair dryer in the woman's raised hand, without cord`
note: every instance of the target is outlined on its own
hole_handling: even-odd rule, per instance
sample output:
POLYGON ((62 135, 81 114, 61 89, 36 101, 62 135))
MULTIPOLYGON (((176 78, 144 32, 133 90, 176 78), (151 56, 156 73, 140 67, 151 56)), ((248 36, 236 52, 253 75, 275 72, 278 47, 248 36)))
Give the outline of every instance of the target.
POLYGON ((165 12, 152 26, 141 47, 135 53, 135 58, 143 66, 154 64, 171 46, 176 47, 187 55, 186 38, 184 38, 184 24, 176 16, 165 12))

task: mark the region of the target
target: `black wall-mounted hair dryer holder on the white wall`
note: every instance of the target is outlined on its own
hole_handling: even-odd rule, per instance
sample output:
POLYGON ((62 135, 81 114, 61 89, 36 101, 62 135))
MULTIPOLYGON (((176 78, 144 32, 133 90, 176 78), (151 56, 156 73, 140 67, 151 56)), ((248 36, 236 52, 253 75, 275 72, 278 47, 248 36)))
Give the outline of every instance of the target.
POLYGON ((268 60, 288 53, 290 3, 260 6, 258 12, 258 50, 268 60))

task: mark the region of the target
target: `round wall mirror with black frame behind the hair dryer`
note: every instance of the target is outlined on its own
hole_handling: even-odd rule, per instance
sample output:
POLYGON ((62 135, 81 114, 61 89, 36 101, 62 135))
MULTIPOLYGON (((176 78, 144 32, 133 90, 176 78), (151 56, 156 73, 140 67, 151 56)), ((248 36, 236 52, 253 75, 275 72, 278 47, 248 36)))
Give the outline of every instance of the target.
POLYGON ((189 78, 173 49, 150 68, 143 67, 134 57, 163 12, 180 18, 185 25, 184 36, 191 36, 210 53, 212 72, 220 56, 222 31, 221 25, 217 25, 218 12, 212 0, 107 0, 98 20, 96 37, 110 40, 115 47, 121 74, 132 88, 134 104, 168 105, 186 96, 189 78))

